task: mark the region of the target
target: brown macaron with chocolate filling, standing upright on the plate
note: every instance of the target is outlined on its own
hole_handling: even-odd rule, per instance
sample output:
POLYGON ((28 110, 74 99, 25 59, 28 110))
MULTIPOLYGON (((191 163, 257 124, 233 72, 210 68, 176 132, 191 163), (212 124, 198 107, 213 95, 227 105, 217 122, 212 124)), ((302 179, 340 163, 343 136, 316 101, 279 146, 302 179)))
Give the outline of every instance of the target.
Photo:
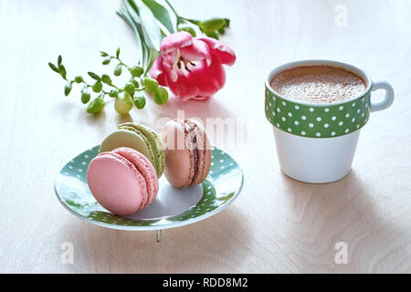
POLYGON ((211 145, 195 120, 170 120, 161 132, 165 178, 175 188, 203 183, 211 164, 211 145))

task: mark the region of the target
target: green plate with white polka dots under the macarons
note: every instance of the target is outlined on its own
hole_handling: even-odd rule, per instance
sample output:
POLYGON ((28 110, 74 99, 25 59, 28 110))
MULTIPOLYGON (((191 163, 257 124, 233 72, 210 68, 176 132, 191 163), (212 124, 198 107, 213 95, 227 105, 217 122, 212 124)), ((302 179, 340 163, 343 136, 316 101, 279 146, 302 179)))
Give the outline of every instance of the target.
POLYGON ((121 230, 159 230, 192 224, 227 208, 243 186, 243 172, 225 151, 212 149, 210 172, 204 183, 174 189, 164 177, 152 204, 128 217, 111 214, 90 192, 86 174, 99 146, 84 151, 58 173, 54 189, 66 209, 92 224, 121 230))

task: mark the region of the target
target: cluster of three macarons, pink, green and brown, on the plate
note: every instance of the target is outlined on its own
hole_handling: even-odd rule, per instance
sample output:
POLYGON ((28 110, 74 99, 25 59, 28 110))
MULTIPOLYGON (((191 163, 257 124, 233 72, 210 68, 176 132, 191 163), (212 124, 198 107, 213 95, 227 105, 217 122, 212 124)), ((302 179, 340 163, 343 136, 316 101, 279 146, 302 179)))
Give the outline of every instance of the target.
POLYGON ((170 120, 161 136, 140 123, 123 123, 100 145, 87 181, 96 200, 113 214, 134 214, 153 203, 158 179, 175 188, 203 183, 211 164, 211 146, 195 120, 170 120))

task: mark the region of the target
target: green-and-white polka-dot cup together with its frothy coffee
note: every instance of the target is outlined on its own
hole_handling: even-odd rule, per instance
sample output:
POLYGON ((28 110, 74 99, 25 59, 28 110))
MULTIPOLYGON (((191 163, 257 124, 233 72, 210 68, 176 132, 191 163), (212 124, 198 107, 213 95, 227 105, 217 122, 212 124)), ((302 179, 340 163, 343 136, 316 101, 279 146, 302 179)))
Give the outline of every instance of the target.
POLYGON ((394 100, 388 82, 372 82, 362 69, 331 60, 279 66, 265 86, 280 169, 305 183, 331 183, 350 172, 370 113, 394 100), (372 99, 377 89, 385 90, 383 99, 372 99))

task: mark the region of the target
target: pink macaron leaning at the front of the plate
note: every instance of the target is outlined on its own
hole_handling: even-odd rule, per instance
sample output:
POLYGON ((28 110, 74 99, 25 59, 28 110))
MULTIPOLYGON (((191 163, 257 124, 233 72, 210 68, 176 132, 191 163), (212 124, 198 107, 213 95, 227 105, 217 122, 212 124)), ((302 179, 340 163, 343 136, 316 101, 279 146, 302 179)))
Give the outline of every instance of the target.
POLYGON ((96 200, 121 216, 153 203, 158 192, 153 164, 139 151, 125 147, 97 155, 90 162, 87 182, 96 200))

